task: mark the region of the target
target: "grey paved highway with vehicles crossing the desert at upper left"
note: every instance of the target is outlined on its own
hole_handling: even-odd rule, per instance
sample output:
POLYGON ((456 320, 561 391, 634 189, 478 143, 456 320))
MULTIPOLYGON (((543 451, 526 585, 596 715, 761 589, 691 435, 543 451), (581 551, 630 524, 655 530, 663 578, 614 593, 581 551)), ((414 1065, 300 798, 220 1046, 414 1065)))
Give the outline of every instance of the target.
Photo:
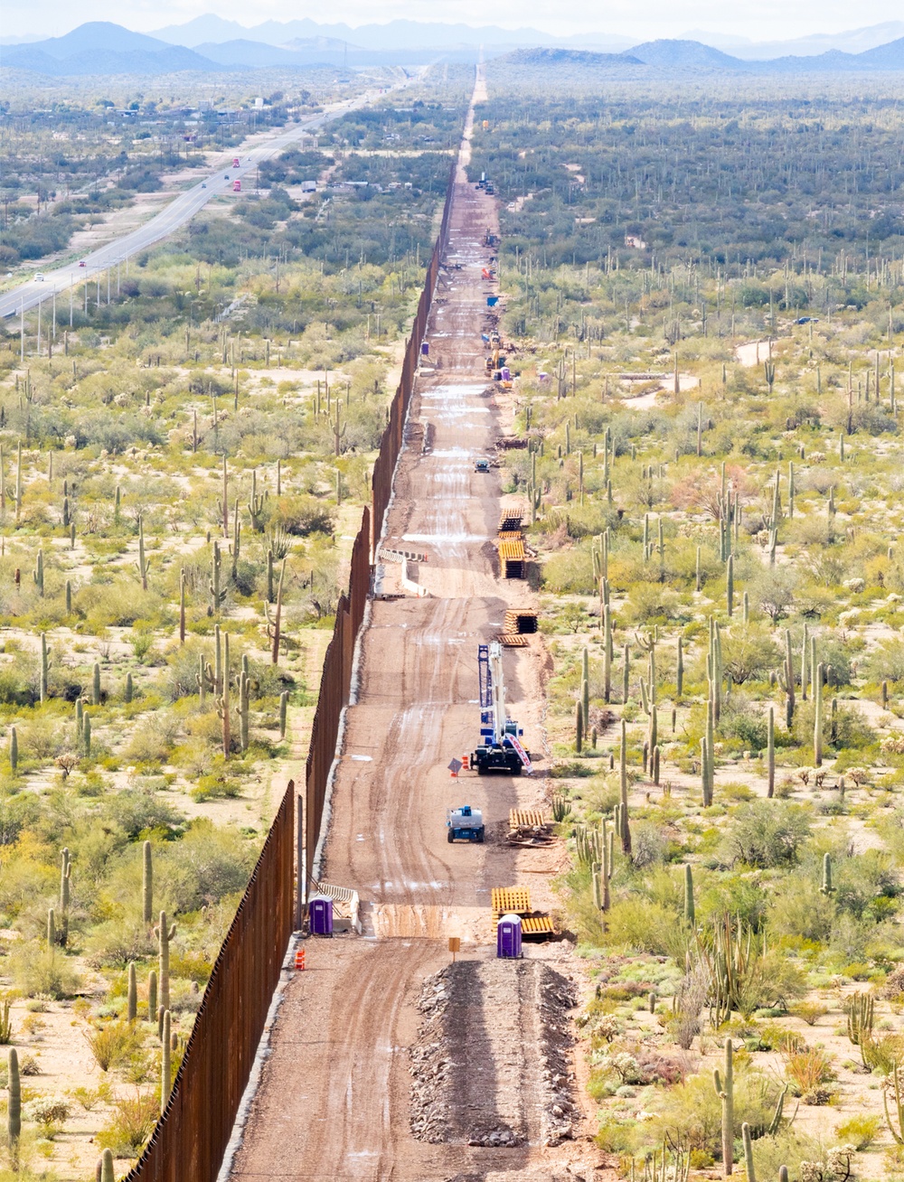
MULTIPOLYGON (((398 85, 404 86, 405 83, 399 83, 398 85)), ((391 89, 395 90, 396 87, 391 89)), ((0 296, 0 316, 19 316, 22 312, 27 312, 30 309, 44 303, 44 300, 50 299, 54 292, 59 294, 60 292, 69 291, 73 284, 82 285, 86 279, 97 279, 100 272, 105 272, 109 267, 115 267, 117 262, 124 262, 126 258, 137 251, 143 251, 154 242, 160 242, 161 239, 168 238, 180 226, 184 226, 187 221, 194 217, 199 209, 202 209, 212 197, 216 197, 223 193, 232 193, 233 181, 241 180, 248 173, 253 173, 262 161, 269 160, 272 156, 284 151, 297 139, 300 139, 301 136, 310 135, 311 131, 323 126, 324 123, 329 123, 331 119, 336 119, 356 108, 365 106, 373 97, 372 93, 365 93, 355 99, 336 103, 326 108, 321 115, 316 115, 303 123, 297 123, 287 131, 279 132, 248 151, 236 148, 235 155, 241 162, 240 168, 229 168, 228 163, 232 163, 229 161, 227 167, 221 165, 215 173, 201 177, 196 184, 181 193, 165 209, 162 209, 150 221, 145 222, 144 226, 86 254, 84 256, 84 267, 79 266, 78 261, 69 262, 57 271, 45 272, 44 280, 30 279, 19 287, 5 292, 0 296), (226 177, 227 173, 229 174, 228 180, 226 177)), ((40 274, 41 272, 39 271, 38 273, 40 274)), ((105 287, 105 282, 102 284, 102 287, 105 287)))

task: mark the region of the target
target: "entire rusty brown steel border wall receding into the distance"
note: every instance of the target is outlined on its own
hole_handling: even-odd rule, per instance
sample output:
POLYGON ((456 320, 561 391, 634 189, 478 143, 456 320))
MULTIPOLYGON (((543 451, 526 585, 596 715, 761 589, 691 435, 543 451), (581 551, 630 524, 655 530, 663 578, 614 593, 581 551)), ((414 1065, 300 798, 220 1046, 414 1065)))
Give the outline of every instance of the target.
MULTIPOLYGON (((330 768, 343 708, 351 693, 355 641, 370 590, 376 547, 402 450, 421 342, 449 230, 455 169, 449 177, 440 234, 427 268, 402 377, 373 466, 372 508, 355 539, 349 592, 339 597, 326 650, 305 772, 305 847, 308 865, 323 823, 330 768)), ((248 1083, 282 959, 292 934, 295 884, 295 787, 290 781, 258 864, 204 989, 165 1111, 125 1182, 215 1182, 248 1083)), ((303 884, 299 884, 299 890, 303 884)))

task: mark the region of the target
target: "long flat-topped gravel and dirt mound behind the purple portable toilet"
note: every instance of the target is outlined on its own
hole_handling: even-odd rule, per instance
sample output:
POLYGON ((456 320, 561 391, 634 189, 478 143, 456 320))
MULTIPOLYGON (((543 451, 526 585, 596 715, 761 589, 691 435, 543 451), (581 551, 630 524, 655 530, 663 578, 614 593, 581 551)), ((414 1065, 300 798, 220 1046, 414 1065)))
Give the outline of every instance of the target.
POLYGON ((495 1148, 571 1137, 574 1000, 540 961, 458 961, 428 978, 411 1048, 415 1137, 495 1148))

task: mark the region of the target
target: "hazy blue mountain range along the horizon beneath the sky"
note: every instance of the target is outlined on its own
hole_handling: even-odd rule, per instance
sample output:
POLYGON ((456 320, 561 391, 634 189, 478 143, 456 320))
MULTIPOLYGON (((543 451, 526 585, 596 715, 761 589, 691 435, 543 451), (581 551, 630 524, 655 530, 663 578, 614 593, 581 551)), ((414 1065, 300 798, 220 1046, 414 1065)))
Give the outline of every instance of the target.
MULTIPOLYGON (((891 21, 886 32, 904 22, 891 21)), ((877 26, 879 27, 879 26, 877 26)), ((817 54, 788 53, 752 59, 692 39, 644 41, 622 52, 574 50, 558 43, 549 46, 536 30, 503 30, 497 26, 390 21, 388 25, 318 25, 312 20, 285 24, 267 21, 253 30, 220 17, 199 17, 181 26, 183 41, 174 44, 176 30, 161 35, 134 33, 109 21, 79 25, 64 37, 5 45, 0 64, 50 77, 73 74, 163 74, 176 71, 297 69, 313 65, 417 65, 443 60, 473 61, 482 45, 487 57, 502 57, 512 65, 571 65, 644 73, 649 70, 681 70, 740 74, 863 73, 904 71, 904 35, 860 52, 828 48, 817 54), (225 37, 226 33, 232 35, 225 37), (165 34, 165 37, 163 35, 165 34), (235 35, 243 34, 243 35, 235 35), (265 37, 267 39, 265 39, 265 37), (481 38, 475 41, 475 38, 481 38)), ((860 41, 869 31, 859 31, 860 41)), ((588 43, 588 38, 583 44, 588 43)), ((857 45, 857 39, 854 39, 857 45)))

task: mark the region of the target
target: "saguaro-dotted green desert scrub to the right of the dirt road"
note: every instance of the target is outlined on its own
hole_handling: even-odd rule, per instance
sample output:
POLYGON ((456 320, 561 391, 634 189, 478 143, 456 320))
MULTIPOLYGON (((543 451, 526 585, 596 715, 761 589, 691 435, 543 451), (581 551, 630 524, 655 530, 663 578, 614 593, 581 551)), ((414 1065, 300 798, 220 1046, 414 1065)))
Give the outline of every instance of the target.
POLYGON ((899 112, 488 73, 598 1142, 900 1177, 899 112))

